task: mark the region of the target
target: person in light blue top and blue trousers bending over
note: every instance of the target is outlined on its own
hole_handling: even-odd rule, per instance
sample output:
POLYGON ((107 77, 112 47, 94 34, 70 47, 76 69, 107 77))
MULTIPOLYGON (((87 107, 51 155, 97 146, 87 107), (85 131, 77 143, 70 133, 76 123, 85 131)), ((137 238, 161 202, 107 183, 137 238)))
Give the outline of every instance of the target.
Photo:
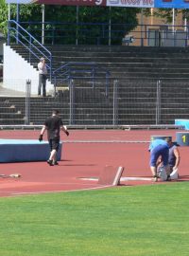
POLYGON ((168 165, 169 146, 171 139, 166 137, 165 139, 154 139, 149 145, 150 151, 150 169, 153 175, 153 181, 158 181, 157 174, 157 161, 161 157, 165 173, 167 174, 167 180, 170 180, 170 170, 168 165))

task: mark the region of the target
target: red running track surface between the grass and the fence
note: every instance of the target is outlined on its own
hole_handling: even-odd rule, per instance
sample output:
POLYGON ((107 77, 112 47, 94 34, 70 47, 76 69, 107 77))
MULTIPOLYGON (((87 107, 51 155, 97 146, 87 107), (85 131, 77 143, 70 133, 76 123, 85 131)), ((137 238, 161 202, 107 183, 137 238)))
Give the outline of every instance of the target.
MULTIPOLYGON (((0 196, 43 192, 101 189, 96 178, 106 165, 124 166, 124 177, 151 177, 148 143, 151 136, 176 137, 178 130, 71 130, 62 135, 59 166, 46 162, 1 163, 0 174, 21 174, 21 178, 0 178, 0 196), (138 143, 136 143, 138 141, 138 143), (139 142, 140 141, 140 142, 139 142), (84 177, 86 179, 81 179, 84 177), (90 179, 95 177, 95 179, 90 179)), ((39 131, 0 131, 0 138, 36 139, 39 131)), ((44 137, 46 139, 46 137, 44 137)), ((180 181, 188 181, 188 147, 180 147, 180 181)), ((173 181, 171 181, 173 182, 173 181)), ((171 183, 170 182, 170 183, 171 183)), ((156 184, 160 184, 158 182, 156 184)), ((151 181, 123 181, 121 185, 152 184, 151 181)))

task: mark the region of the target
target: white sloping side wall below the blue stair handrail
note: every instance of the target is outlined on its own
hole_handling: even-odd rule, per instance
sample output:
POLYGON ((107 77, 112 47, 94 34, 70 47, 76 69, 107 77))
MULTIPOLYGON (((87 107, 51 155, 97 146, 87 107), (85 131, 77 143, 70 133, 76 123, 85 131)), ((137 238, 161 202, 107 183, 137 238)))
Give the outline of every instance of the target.
MULTIPOLYGON (((39 73, 28 64, 18 53, 10 46, 4 44, 4 73, 3 87, 19 92, 26 92, 26 81, 31 81, 31 95, 38 94, 39 73)), ((52 95, 54 85, 46 82, 46 93, 52 95)))

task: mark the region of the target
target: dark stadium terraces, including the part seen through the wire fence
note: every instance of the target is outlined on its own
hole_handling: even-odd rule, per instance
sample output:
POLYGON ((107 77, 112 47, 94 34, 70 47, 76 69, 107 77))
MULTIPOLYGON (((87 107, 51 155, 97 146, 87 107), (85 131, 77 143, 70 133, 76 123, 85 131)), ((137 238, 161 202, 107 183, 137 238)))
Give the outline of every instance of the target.
MULTIPOLYGON (((28 52, 23 46, 11 47, 29 61, 28 52)), ((155 123, 158 81, 163 81, 161 122, 174 123, 174 119, 189 118, 188 48, 137 46, 47 46, 47 48, 52 52, 53 70, 69 62, 94 62, 111 72, 111 81, 119 82, 117 102, 119 109, 117 123, 119 124, 155 123), (177 82, 180 82, 180 93, 178 93, 177 82), (170 84, 174 85, 170 86, 170 84), (131 93, 132 90, 133 93, 131 93), (145 105, 146 108, 144 108, 145 105)), ((30 63, 37 68, 38 60, 31 58, 30 63)), ((95 88, 83 84, 83 82, 77 82, 74 122, 76 124, 112 124, 112 90, 109 96, 105 97, 104 84, 98 84, 95 88)), ((62 86, 66 87, 67 84, 60 84, 60 87, 62 86)), ((15 121, 23 123, 25 100, 17 100, 12 97, 3 99, 4 102, 9 101, 9 107, 15 106, 15 113, 21 113, 20 120, 15 119, 15 121)), ((31 123, 42 124, 43 119, 50 115, 55 107, 62 110, 62 119, 69 123, 69 91, 66 88, 57 99, 31 98, 30 102, 31 123)), ((12 114, 9 117, 13 117, 12 114)), ((2 121, 12 123, 13 118, 2 121)))

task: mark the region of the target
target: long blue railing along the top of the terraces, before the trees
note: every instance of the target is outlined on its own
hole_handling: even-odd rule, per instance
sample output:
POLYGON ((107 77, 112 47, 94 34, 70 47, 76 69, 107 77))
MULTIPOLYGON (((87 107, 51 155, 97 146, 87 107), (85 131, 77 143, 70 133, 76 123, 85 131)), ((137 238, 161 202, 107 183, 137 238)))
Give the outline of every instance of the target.
POLYGON ((185 47, 189 39, 188 26, 44 22, 42 33, 40 22, 20 25, 44 45, 185 47))

